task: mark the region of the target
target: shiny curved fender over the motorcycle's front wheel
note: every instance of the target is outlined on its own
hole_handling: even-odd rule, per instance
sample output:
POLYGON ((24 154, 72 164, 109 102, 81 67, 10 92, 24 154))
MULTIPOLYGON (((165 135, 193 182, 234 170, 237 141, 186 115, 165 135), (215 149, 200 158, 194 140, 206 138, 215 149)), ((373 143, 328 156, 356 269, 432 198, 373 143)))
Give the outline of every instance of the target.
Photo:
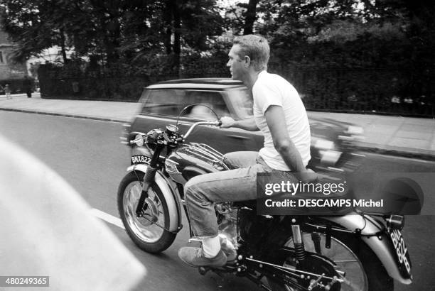
MULTIPOLYGON (((131 165, 127 168, 127 172, 131 171, 141 171, 146 172, 148 165, 144 164, 136 164, 131 165)), ((171 186, 171 182, 169 182, 166 177, 161 173, 157 172, 156 177, 154 178, 157 186, 159 186, 161 192, 163 193, 163 197, 165 197, 166 204, 168 205, 169 212, 169 231, 178 232, 181 230, 181 204, 180 199, 178 197, 178 192, 171 186)))

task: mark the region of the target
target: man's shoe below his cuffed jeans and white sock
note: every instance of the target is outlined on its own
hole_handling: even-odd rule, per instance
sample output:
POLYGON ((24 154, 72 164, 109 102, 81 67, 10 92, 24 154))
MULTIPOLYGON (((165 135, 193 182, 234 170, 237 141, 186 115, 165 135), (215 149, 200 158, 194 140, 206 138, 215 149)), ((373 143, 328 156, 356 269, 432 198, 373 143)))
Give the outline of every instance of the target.
POLYGON ((186 246, 180 248, 180 251, 178 251, 178 257, 180 257, 184 263, 195 268, 219 268, 227 264, 227 256, 225 256, 225 253, 223 253, 222 250, 220 250, 218 255, 214 258, 205 258, 202 248, 186 246))

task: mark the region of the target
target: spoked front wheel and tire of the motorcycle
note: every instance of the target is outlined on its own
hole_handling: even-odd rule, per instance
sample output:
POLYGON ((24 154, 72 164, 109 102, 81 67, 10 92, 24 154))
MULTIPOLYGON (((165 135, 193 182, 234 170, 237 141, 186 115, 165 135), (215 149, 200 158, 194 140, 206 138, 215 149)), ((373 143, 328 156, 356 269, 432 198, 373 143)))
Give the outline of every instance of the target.
MULTIPOLYGON (((141 194, 141 185, 144 181, 144 172, 129 172, 122 179, 118 188, 118 211, 122 223, 131 240, 147 253, 160 253, 173 243, 176 234, 162 229, 144 217, 136 217, 136 206, 141 194)), ((148 191, 149 205, 145 214, 149 219, 169 228, 169 211, 166 200, 159 186, 154 182, 148 191)))

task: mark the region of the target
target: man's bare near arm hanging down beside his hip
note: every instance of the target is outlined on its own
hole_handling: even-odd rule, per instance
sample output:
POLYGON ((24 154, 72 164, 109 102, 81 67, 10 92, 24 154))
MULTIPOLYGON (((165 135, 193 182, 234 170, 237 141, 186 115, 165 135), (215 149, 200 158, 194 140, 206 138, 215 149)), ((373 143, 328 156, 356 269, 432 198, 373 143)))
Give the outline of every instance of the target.
POLYGON ((274 141, 274 147, 286 165, 292 172, 299 173, 301 181, 311 182, 316 180, 316 175, 305 168, 301 153, 299 153, 299 150, 289 137, 282 107, 271 105, 264 113, 264 116, 274 141))

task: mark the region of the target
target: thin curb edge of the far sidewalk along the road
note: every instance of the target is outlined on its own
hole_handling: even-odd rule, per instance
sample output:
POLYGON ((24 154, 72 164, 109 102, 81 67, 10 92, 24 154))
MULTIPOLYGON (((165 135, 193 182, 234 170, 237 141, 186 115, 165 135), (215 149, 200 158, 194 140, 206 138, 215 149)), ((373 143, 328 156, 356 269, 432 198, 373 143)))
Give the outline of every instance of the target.
MULTIPOLYGON (((13 108, 1 108, 0 110, 3 111, 16 111, 16 112, 22 112, 22 113, 30 113, 30 114, 43 114, 43 115, 52 115, 52 116, 63 116, 63 117, 72 117, 72 118, 78 118, 78 119, 90 119, 90 120, 96 120, 96 121, 110 121, 110 122, 116 122, 116 123, 126 123, 129 121, 122 120, 122 119, 108 119, 104 117, 96 117, 96 116, 86 116, 86 115, 77 115, 77 114, 61 114, 56 112, 49 112, 49 111, 36 111, 36 110, 28 110, 28 109, 13 109, 13 108)), ((356 145, 355 150, 368 152, 368 153, 378 153, 381 155, 393 155, 393 156, 399 156, 404 158, 418 158, 421 160, 434 160, 435 161, 435 154, 431 153, 416 153, 416 152, 410 152, 407 150, 398 150, 398 149, 392 149, 392 148, 380 148, 377 144, 372 144, 372 146, 368 145, 356 145)))

